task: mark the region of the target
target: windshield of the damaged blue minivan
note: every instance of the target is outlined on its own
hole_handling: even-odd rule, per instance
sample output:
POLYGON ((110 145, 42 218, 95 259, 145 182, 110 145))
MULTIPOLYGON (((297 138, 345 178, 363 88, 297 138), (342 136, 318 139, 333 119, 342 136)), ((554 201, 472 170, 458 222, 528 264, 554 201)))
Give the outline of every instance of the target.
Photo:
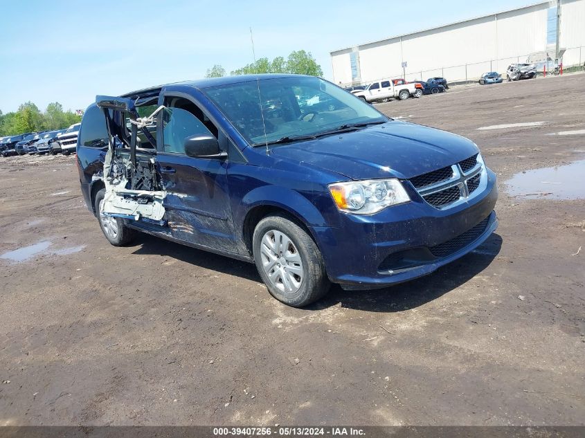
POLYGON ((204 90, 253 146, 388 118, 318 77, 278 77, 204 90))

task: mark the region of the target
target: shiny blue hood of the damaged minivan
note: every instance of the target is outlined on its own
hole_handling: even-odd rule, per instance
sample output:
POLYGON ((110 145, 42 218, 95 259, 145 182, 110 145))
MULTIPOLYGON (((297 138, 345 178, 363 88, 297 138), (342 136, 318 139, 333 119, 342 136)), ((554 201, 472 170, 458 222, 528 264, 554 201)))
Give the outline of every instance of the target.
POLYGON ((467 138, 396 120, 343 134, 275 146, 275 158, 350 179, 412 178, 476 154, 467 138))

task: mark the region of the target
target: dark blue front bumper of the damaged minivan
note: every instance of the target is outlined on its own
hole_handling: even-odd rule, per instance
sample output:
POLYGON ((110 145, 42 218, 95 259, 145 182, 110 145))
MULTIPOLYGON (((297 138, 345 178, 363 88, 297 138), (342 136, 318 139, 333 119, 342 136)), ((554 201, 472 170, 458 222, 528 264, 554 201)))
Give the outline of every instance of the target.
POLYGON ((422 199, 376 215, 342 215, 316 227, 327 275, 343 289, 376 289, 429 274, 483 244, 496 230, 496 176, 474 199, 438 210, 422 199))

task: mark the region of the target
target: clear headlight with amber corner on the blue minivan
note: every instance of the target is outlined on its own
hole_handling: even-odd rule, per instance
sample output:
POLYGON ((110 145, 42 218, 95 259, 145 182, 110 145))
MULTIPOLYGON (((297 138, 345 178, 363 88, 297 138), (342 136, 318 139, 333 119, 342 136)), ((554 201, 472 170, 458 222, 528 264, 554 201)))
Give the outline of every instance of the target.
POLYGON ((337 208, 356 215, 371 215, 389 206, 410 201, 397 179, 370 179, 330 184, 337 208))

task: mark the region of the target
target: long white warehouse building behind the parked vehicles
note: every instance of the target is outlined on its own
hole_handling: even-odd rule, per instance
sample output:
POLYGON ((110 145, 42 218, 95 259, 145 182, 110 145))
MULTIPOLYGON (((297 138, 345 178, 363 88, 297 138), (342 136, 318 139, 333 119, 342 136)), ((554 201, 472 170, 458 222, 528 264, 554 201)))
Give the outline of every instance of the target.
POLYGON ((403 75, 477 80, 515 62, 543 61, 547 53, 554 59, 557 29, 563 66, 582 65, 585 0, 553 0, 333 51, 333 78, 343 86, 403 75))

